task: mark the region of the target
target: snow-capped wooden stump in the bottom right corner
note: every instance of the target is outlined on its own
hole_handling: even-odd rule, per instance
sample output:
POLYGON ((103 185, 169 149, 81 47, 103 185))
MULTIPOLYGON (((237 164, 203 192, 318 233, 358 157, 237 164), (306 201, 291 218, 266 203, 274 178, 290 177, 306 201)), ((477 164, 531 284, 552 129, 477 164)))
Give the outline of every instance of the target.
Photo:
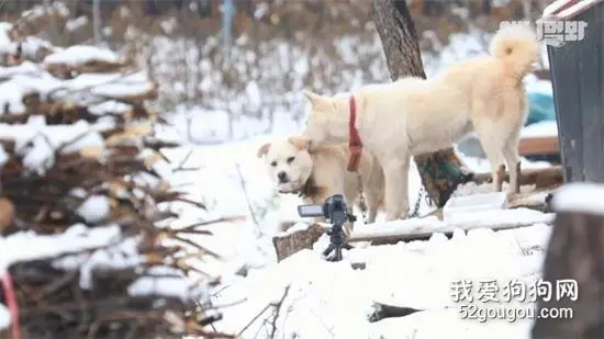
POLYGON ((557 216, 543 278, 551 283, 551 298, 538 301, 537 315, 547 308, 559 316, 537 317, 533 338, 604 338, 604 185, 562 187, 552 207, 557 216), (575 281, 577 300, 557 294, 562 280, 575 281))

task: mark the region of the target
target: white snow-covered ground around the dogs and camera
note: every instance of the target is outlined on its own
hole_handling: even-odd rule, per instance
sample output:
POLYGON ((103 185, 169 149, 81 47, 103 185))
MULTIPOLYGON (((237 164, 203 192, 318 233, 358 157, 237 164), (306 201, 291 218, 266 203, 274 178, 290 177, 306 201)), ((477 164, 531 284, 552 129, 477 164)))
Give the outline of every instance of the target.
MULTIPOLYGON (((530 324, 526 320, 481 323, 461 319, 460 304, 451 301, 449 289, 456 279, 470 280, 474 284, 480 280, 496 279, 500 287, 513 279, 525 284, 534 283, 539 278, 550 231, 546 225, 551 219, 549 215, 518 210, 505 218, 522 221, 528 217, 535 221, 535 225, 497 233, 473 229, 466 234, 457 229, 450 240, 436 233, 429 241, 378 247, 361 244, 346 252, 347 259, 340 263, 321 259, 320 251, 328 241, 322 238, 313 251, 302 251, 278 264, 271 236, 279 231, 281 222, 303 221, 295 210, 300 200, 275 193, 264 161, 256 158, 257 148, 272 137, 188 146, 168 154, 178 163, 192 150, 183 167, 199 169, 174 173, 172 183, 190 192, 192 199, 203 200, 211 211, 210 215, 202 216, 183 206, 183 217, 179 223, 188 225, 202 217, 228 215, 247 217, 244 222, 212 226, 213 239, 197 239, 206 241, 208 246, 225 256, 224 261, 209 262, 203 267, 209 273, 223 276, 224 290, 216 295, 216 304, 236 303, 236 306, 223 309, 225 318, 216 329, 226 332, 243 330, 262 308, 282 296, 284 286, 291 285, 277 320, 278 335, 273 338, 529 338, 530 324), (353 270, 349 261, 363 261, 367 267, 353 270), (235 274, 242 268, 248 271, 245 279, 235 274), (372 324, 367 321, 372 302, 426 310, 372 324)), ((465 158, 465 161, 477 171, 489 169, 483 159, 465 158)), ((546 166, 545 162, 527 161, 523 165, 525 168, 546 166)), ((420 189, 415 169, 410 184, 410 200, 414 202, 420 189)), ((468 187, 465 190, 480 191, 481 188, 468 187)), ((423 202, 421 213, 429 210, 423 202)), ((502 221, 497 213, 482 214, 480 218, 502 221)), ((356 230, 396 227, 392 225, 394 223, 389 224, 360 225, 356 230)), ((496 306, 526 308, 532 304, 496 306)), ((243 332, 243 337, 270 338, 271 325, 265 318, 270 320, 272 312, 267 309, 243 332)))

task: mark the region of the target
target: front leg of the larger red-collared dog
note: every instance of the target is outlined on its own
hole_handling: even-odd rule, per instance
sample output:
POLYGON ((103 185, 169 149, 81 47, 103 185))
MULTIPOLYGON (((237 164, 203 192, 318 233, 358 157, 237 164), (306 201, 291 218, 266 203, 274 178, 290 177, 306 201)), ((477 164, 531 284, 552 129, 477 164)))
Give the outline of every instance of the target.
POLYGON ((404 215, 406 216, 406 208, 409 206, 409 196, 405 183, 409 178, 407 171, 404 168, 409 168, 409 157, 405 161, 401 159, 390 158, 387 161, 380 161, 383 163, 383 173, 385 179, 385 219, 396 221, 404 215), (406 165, 405 165, 406 161, 406 165), (404 211, 404 212, 403 212, 404 211))

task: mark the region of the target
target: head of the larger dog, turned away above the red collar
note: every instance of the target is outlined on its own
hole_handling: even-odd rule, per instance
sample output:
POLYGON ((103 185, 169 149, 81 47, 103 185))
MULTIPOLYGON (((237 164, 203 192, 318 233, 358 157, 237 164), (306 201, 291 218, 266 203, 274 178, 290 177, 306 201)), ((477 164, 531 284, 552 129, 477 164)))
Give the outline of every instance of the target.
POLYGON ((335 100, 331 97, 320 95, 309 90, 304 90, 304 97, 311 103, 304 137, 310 140, 311 147, 316 147, 328 140, 329 120, 335 116, 337 106, 335 100))

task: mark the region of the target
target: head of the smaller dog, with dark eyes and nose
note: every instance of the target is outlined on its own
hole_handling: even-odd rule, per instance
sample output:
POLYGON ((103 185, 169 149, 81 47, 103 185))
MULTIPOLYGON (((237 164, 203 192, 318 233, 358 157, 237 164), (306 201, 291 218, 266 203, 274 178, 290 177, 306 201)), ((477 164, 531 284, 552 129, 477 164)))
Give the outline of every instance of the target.
POLYGON ((313 160, 310 140, 295 136, 262 145, 258 158, 264 157, 270 178, 281 193, 300 190, 311 177, 313 160))

